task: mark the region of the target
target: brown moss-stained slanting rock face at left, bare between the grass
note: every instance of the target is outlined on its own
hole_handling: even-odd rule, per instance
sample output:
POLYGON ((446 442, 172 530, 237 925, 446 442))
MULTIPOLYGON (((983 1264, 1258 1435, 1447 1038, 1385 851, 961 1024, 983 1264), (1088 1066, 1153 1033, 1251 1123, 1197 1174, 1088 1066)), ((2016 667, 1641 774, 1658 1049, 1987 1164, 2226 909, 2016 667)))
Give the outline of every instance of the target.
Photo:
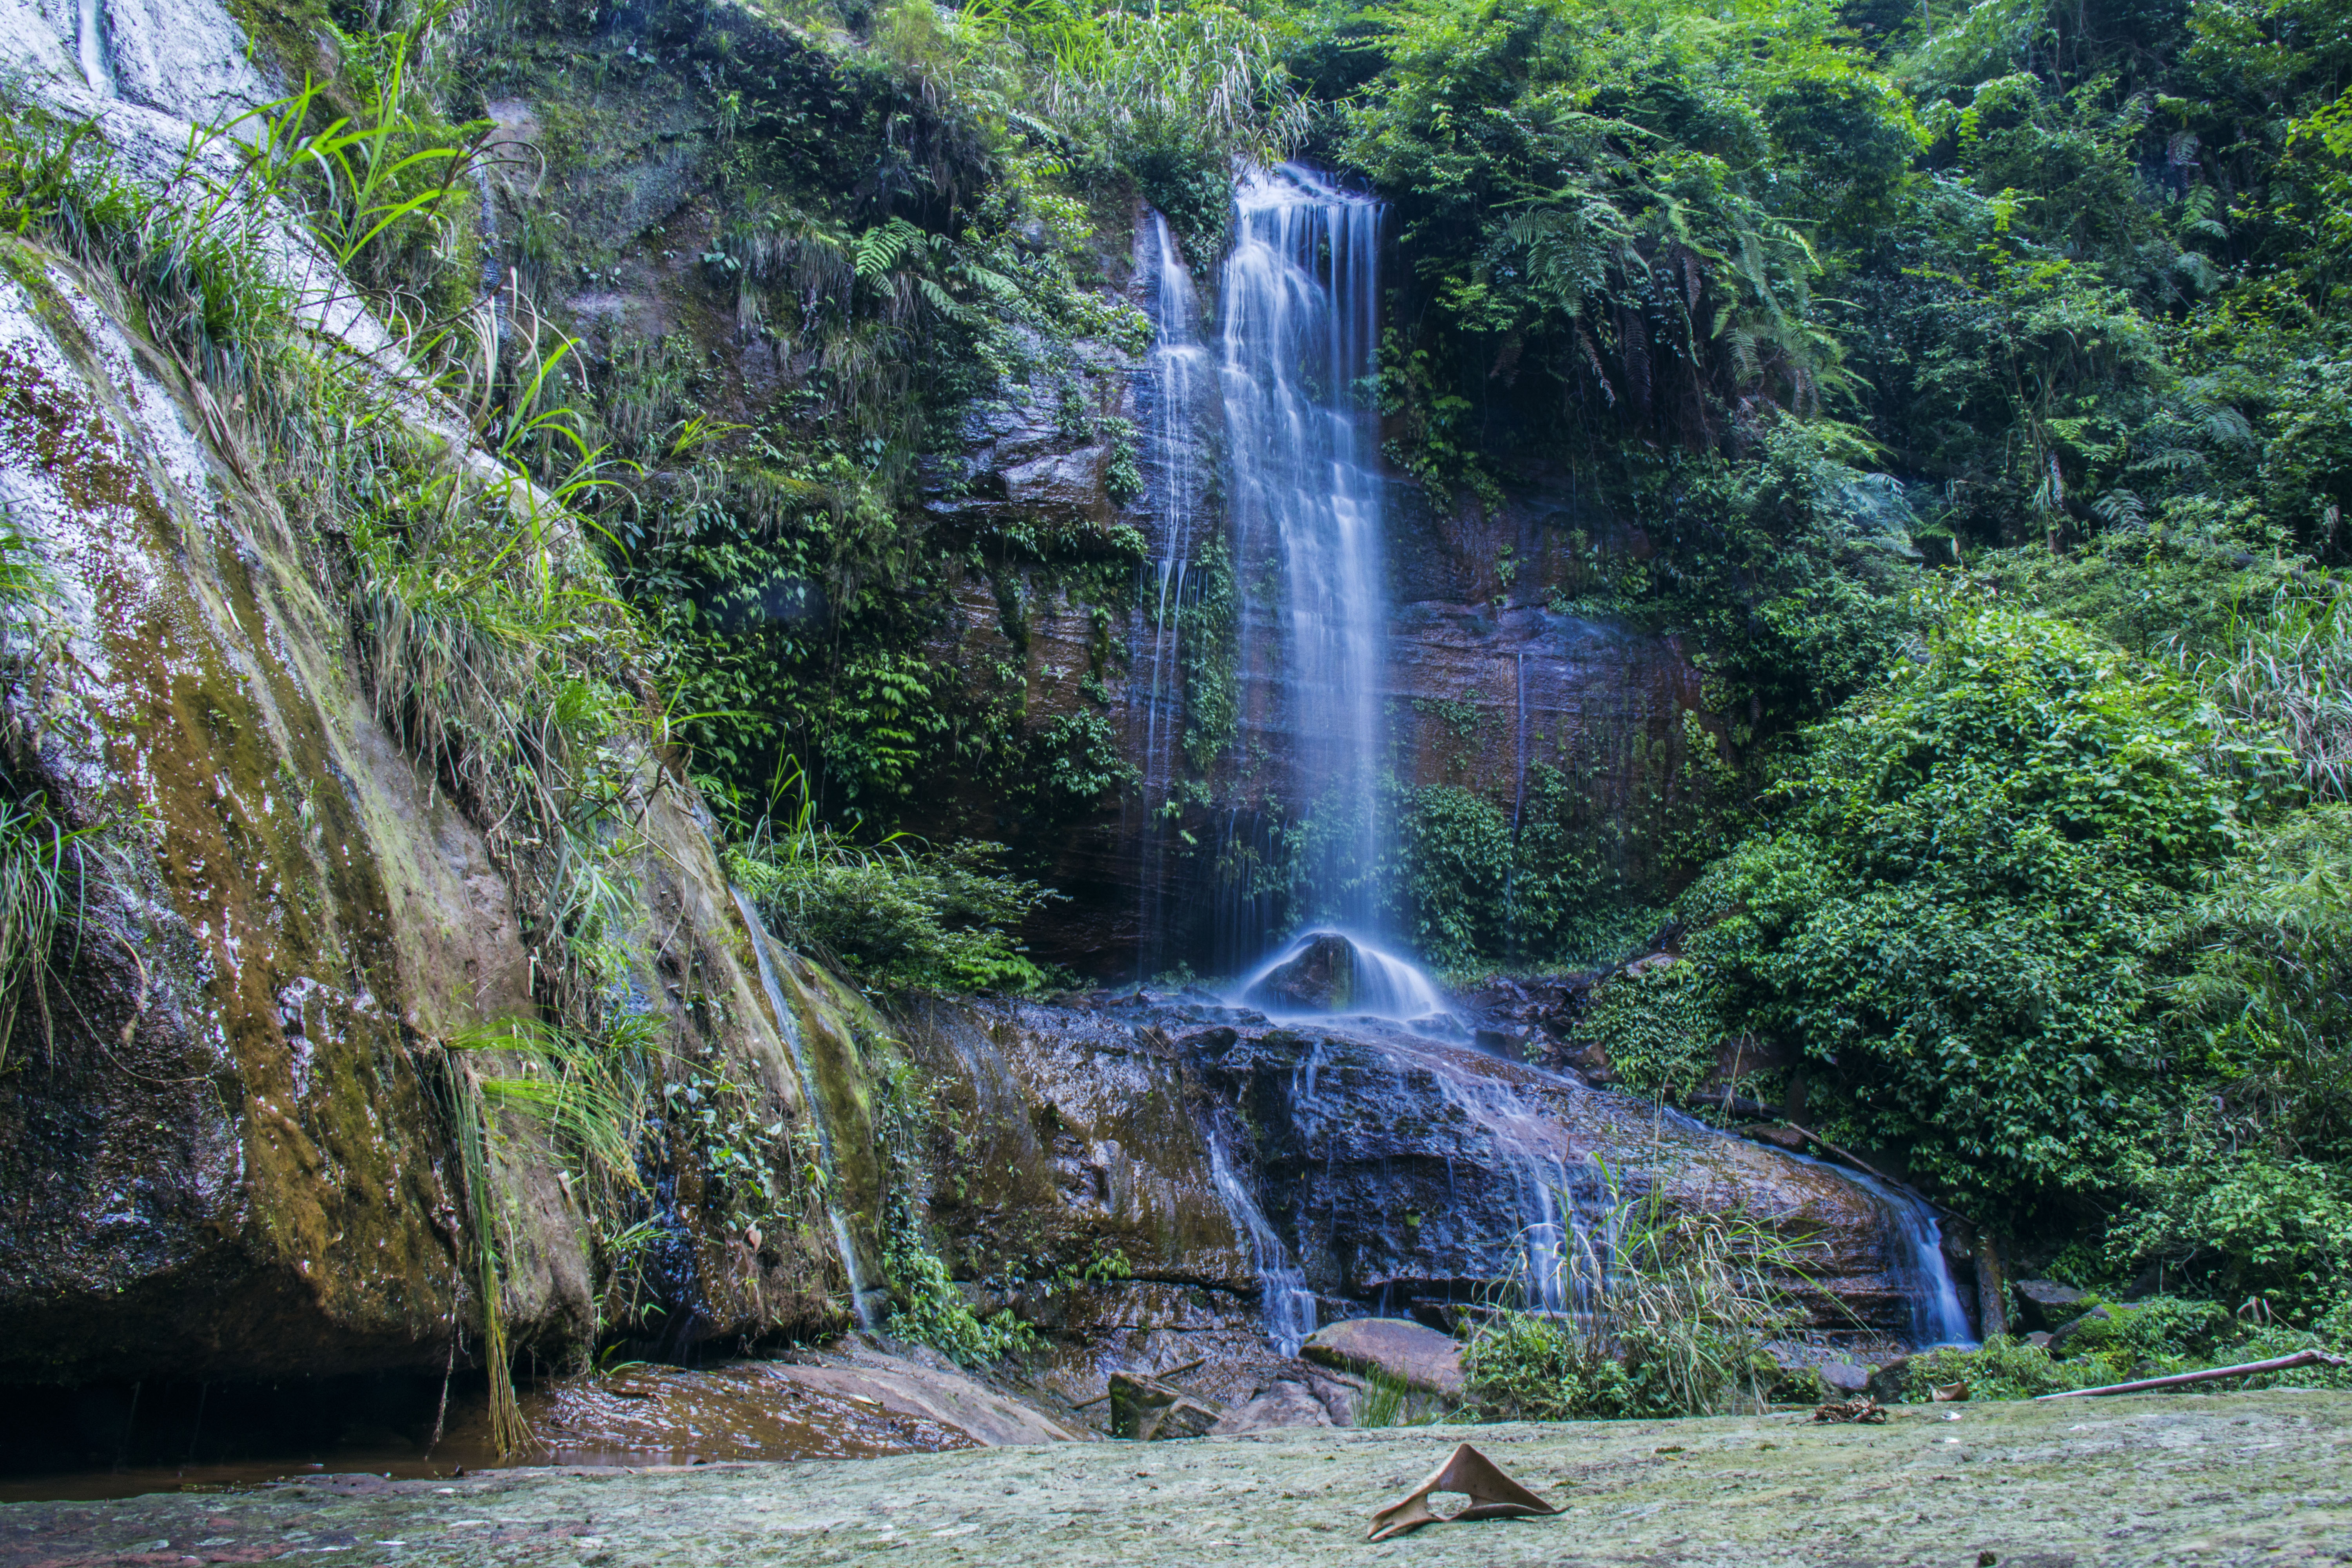
MULTIPOLYGON (((186 150, 174 115, 254 78, 209 0, 103 9, 125 96, 94 96, 73 31, 14 0, 0 66, 61 118, 103 113, 143 176, 186 150)), ((442 1044, 539 1016, 508 879, 379 724, 334 583, 223 456, 219 409, 111 313, 113 287, 0 247, 0 503, 54 583, 0 658, 0 729, 9 785, 87 830, 52 1006, 5 1041, 0 1382, 447 1368, 461 1328, 480 1345, 480 1302, 442 1044)), ((299 247, 263 263, 322 334, 383 343, 299 247)), ((762 1124, 797 1124, 807 1095, 691 795, 654 759, 633 788, 630 987, 762 1124)), ((492 1133, 510 1340, 567 1354, 597 1324, 586 1213, 539 1124, 499 1112, 492 1133)), ((691 1150, 661 1178, 680 1347, 837 1324, 830 1237, 722 1234, 710 1185, 691 1150)))

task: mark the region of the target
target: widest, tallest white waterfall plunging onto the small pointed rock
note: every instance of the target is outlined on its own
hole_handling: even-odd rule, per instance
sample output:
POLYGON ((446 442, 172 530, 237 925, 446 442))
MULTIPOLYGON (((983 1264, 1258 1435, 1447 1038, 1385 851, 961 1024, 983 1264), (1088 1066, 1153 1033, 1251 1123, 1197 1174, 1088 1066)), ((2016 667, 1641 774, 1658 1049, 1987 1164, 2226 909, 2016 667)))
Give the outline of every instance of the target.
POLYGON ((1362 383, 1378 327, 1376 202, 1284 165, 1237 190, 1218 383, 1237 574, 1282 578, 1279 646, 1244 616, 1247 701, 1287 736, 1315 820, 1315 912, 1371 929, 1381 863, 1388 597, 1378 437, 1362 383))

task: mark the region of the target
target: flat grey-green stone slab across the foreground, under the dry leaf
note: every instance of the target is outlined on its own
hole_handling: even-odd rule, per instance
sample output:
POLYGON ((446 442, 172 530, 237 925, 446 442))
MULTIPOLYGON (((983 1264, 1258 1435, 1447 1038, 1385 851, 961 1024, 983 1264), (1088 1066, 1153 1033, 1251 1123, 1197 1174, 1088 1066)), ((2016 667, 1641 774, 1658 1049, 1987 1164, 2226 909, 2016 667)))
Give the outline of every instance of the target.
POLYGON ((2281 1563, 2352 1561, 2352 1396, 1301 1432, 659 1472, 303 1481, 0 1507, 33 1563, 2281 1563), (1957 1420, 1952 1420, 1957 1415, 1957 1420), (1566 1507, 1364 1544, 1470 1439, 1566 1507))

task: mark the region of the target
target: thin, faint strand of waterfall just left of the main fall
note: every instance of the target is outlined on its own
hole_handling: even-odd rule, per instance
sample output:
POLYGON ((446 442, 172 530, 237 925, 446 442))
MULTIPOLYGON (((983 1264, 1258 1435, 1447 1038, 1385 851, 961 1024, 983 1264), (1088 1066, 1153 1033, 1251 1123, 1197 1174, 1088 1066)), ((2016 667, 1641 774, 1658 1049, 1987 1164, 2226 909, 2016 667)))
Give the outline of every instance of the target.
POLYGON ((1152 348, 1143 362, 1143 463, 1150 484, 1152 524, 1160 557, 1138 616, 1145 623, 1129 642, 1136 649, 1136 672, 1129 682, 1129 724, 1141 738, 1143 783, 1138 806, 1141 863, 1141 943, 1138 980, 1167 969, 1169 931, 1169 816, 1176 785, 1178 731, 1183 729, 1183 670, 1178 663, 1185 604, 1185 567, 1192 555, 1192 522, 1202 510, 1204 473, 1200 411, 1209 390, 1209 348, 1200 341, 1200 301, 1183 252, 1157 212, 1150 214, 1138 244, 1136 270, 1150 275, 1152 348))

